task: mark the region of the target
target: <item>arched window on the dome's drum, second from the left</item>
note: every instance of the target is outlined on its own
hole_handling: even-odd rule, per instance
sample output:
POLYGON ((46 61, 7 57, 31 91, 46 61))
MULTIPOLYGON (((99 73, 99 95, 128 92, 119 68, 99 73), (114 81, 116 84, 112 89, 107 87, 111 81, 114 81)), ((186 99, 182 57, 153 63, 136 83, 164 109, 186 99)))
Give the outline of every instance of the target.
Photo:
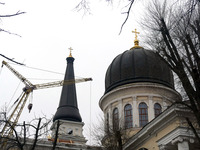
POLYGON ((133 127, 132 106, 130 104, 127 104, 124 107, 124 120, 125 120, 125 128, 126 129, 133 127))

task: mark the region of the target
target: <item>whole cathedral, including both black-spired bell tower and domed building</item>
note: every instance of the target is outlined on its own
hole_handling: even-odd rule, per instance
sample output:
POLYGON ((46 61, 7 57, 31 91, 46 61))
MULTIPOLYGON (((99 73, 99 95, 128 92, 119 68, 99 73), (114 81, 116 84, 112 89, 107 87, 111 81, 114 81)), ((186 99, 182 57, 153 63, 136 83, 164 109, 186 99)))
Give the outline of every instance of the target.
MULTIPOLYGON (((168 65, 153 51, 135 45, 116 56, 105 73, 105 92, 99 100, 104 113, 105 137, 102 146, 88 146, 83 135, 84 121, 79 113, 75 83, 63 85, 59 106, 53 118, 52 135, 37 143, 36 150, 107 149, 113 131, 120 131, 118 150, 199 150, 198 141, 185 121, 193 118, 180 105, 174 77, 168 65)), ((67 57, 64 80, 74 80, 74 58, 67 57)), ((200 130, 197 130, 200 134, 200 130)), ((115 135, 114 135, 115 136, 115 135)), ((24 149, 30 149, 28 140, 24 149)), ((114 147, 109 148, 116 150, 114 147)))

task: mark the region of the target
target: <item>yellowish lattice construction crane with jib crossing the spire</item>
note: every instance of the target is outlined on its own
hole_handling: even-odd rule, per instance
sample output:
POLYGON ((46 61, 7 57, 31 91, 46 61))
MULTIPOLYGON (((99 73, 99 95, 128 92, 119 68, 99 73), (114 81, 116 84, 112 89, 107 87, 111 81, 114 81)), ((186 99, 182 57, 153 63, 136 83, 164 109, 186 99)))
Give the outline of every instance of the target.
MULTIPOLYGON (((56 82, 49 82, 44 84, 32 84, 29 80, 27 80, 23 75, 21 75, 18 71, 12 68, 7 62, 3 61, 2 65, 5 65, 14 75, 16 75, 24 84, 25 87, 23 88, 23 93, 19 98, 17 105, 15 106, 14 110, 12 111, 11 115, 7 119, 2 132, 1 137, 7 136, 10 137, 13 134, 13 129, 15 128, 19 117, 23 111, 23 108, 26 104, 26 101, 33 90, 44 89, 44 88, 52 88, 52 87, 59 87, 62 85, 73 84, 73 83, 80 83, 91 81, 92 78, 81 78, 81 79, 74 79, 74 80, 67 80, 67 81, 56 81, 56 82)), ((32 106, 30 106, 31 109, 32 106)))

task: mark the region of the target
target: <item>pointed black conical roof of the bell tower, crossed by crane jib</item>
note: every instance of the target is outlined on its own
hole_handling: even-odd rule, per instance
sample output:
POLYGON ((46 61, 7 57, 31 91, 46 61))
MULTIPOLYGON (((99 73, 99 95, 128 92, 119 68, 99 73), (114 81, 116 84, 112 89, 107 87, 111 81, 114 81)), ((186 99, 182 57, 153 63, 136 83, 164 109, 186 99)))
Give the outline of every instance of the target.
MULTIPOLYGON (((67 69, 64 80, 74 79, 73 62, 74 62, 73 57, 67 57, 67 69)), ((57 112, 53 118, 53 121, 56 120, 82 122, 82 118, 79 114, 79 109, 77 104, 75 83, 69 85, 63 85, 60 97, 60 103, 57 108, 57 112)))

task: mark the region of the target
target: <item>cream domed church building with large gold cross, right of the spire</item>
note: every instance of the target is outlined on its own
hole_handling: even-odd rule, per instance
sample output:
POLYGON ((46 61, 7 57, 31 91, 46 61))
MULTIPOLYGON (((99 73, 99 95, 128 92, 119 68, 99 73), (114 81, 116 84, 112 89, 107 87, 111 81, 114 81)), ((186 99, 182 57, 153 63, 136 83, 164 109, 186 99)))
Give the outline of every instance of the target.
POLYGON ((155 52, 139 46, 134 32, 134 47, 116 56, 105 75, 99 101, 105 118, 103 143, 110 144, 114 131, 120 131, 123 150, 199 150, 185 120, 193 115, 177 103, 182 98, 171 69, 155 52))

